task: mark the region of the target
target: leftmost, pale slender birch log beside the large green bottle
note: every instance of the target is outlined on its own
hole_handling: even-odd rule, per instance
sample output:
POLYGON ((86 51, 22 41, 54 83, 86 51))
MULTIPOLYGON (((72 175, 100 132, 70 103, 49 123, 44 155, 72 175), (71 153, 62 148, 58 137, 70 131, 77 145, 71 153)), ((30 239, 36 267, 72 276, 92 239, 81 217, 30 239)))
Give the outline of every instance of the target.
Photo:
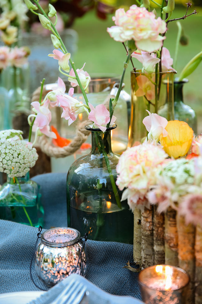
POLYGON ((141 265, 141 211, 135 208, 134 212, 134 235, 133 235, 133 260, 134 263, 141 265))

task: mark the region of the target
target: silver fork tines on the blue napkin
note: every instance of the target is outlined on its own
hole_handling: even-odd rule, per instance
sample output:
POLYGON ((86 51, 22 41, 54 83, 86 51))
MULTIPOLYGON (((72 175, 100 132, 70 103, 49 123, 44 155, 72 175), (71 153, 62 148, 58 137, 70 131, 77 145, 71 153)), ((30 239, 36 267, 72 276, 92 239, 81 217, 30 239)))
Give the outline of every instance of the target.
POLYGON ((79 304, 86 292, 86 287, 79 282, 71 282, 51 304, 79 304))

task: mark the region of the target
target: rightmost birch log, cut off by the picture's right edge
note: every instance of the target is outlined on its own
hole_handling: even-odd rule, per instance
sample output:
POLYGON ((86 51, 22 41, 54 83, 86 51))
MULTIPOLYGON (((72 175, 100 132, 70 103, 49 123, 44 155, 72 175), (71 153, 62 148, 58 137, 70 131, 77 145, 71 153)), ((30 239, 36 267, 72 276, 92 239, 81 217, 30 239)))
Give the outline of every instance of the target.
POLYGON ((202 303, 202 226, 196 226, 195 235, 195 304, 202 303))

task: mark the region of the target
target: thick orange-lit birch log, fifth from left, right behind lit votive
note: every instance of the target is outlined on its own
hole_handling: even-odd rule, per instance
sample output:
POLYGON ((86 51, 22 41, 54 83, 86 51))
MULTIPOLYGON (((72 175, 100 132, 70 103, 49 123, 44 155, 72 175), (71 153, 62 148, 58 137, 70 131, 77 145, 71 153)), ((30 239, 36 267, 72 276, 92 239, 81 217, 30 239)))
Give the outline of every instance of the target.
POLYGON ((186 288, 185 304, 194 304, 195 226, 186 225, 184 217, 177 215, 177 233, 179 267, 186 270, 190 276, 190 282, 186 288))

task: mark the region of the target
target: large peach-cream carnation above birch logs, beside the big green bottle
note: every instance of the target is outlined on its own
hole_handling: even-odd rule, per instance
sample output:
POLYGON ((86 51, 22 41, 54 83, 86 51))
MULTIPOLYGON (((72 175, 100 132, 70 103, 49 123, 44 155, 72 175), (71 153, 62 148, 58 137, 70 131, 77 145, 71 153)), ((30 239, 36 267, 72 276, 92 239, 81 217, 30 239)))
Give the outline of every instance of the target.
POLYGON ((137 206, 143 209, 144 198, 151 186, 155 185, 158 172, 168 155, 162 147, 145 143, 131 147, 122 153, 117 165, 116 184, 123 190, 122 200, 128 199, 131 210, 137 206))

